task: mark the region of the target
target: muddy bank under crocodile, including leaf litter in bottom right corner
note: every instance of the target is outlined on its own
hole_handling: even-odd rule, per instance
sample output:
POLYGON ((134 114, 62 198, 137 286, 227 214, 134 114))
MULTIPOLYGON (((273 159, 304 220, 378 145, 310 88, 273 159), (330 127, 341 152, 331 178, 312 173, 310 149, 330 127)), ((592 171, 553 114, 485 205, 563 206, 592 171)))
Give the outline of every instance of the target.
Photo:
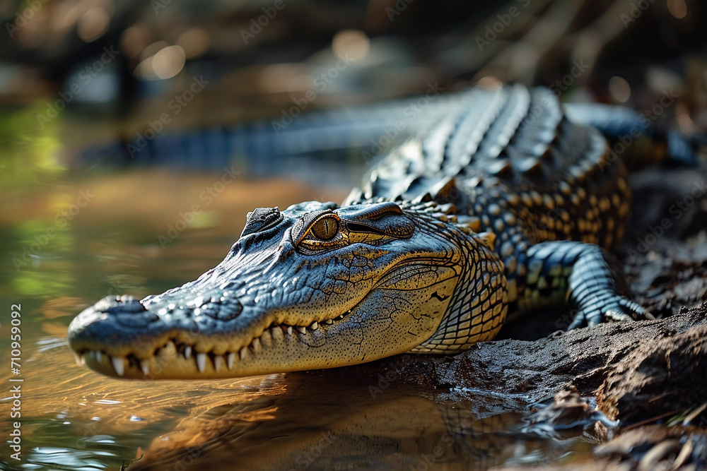
POLYGON ((408 383, 436 391, 439 399, 469 400, 476 415, 530 411, 527 434, 573 430, 603 442, 592 458, 547 463, 547 469, 707 465, 707 303, 657 321, 482 342, 453 358, 409 355, 351 370, 368 376, 372 394, 408 383), (483 411, 474 410, 479 398, 483 411))

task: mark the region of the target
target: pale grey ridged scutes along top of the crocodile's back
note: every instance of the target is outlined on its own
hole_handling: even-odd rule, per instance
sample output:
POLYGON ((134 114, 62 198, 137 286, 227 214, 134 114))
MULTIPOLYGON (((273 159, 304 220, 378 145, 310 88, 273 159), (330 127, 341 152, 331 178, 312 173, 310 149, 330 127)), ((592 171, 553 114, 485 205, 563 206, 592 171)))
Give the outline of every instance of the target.
POLYGON ((344 204, 436 201, 478 213, 477 194, 493 186, 542 193, 590 177, 600 165, 594 130, 568 121, 547 88, 479 87, 461 102, 438 126, 382 158, 344 204))

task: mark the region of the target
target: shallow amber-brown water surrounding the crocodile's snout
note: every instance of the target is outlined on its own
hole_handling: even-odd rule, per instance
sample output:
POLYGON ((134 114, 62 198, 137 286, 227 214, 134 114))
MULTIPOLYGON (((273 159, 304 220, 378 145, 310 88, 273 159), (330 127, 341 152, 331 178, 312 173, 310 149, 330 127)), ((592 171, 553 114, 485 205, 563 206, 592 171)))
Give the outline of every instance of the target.
POLYGON ((218 172, 76 171, 59 153, 66 136, 9 126, 23 119, 2 119, 0 424, 10 439, 21 421, 22 448, 15 460, 4 444, 0 468, 117 470, 142 457, 129 469, 467 470, 590 449, 581 431, 548 436, 525 414, 491 412, 487 398, 452 400, 395 381, 380 393, 355 377, 307 373, 136 382, 77 365, 66 326, 86 306, 197 278, 221 261, 256 206, 341 201, 347 189, 243 178, 214 192, 218 172), (13 304, 21 305, 15 372, 13 304), (17 384, 21 417, 11 419, 17 384))

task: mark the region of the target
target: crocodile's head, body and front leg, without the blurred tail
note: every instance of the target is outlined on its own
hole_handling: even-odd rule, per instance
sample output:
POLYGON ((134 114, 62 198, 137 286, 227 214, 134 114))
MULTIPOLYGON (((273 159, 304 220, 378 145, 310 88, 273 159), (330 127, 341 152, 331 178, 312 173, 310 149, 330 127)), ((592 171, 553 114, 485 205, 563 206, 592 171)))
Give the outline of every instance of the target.
POLYGON ((522 85, 440 102, 341 205, 257 208, 197 280, 82 311, 77 361, 120 378, 226 378, 456 354, 548 306, 571 311, 568 329, 653 318, 611 254, 631 191, 607 136, 636 115, 522 85))

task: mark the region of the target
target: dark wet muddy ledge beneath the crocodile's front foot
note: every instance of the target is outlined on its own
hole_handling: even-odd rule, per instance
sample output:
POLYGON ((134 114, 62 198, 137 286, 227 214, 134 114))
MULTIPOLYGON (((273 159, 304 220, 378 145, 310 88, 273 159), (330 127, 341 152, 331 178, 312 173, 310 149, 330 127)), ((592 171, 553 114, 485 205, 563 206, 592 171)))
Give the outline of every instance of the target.
POLYGON ((315 374, 346 376, 346 370, 368 377, 373 393, 406 383, 459 398, 497 396, 499 410, 575 390, 596 396, 610 419, 638 422, 707 400, 707 303, 657 321, 481 342, 452 358, 404 355, 315 374))

